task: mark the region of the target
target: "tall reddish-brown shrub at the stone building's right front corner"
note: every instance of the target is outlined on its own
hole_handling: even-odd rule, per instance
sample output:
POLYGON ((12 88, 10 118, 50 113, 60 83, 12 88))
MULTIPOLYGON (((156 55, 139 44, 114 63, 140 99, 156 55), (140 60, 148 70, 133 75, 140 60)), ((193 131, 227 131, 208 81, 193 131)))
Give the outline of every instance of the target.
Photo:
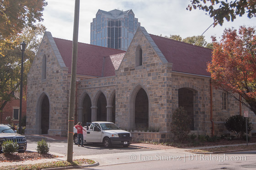
POLYGON ((176 108, 172 114, 171 133, 173 138, 178 139, 181 143, 187 138, 190 132, 191 118, 187 115, 184 107, 176 108))

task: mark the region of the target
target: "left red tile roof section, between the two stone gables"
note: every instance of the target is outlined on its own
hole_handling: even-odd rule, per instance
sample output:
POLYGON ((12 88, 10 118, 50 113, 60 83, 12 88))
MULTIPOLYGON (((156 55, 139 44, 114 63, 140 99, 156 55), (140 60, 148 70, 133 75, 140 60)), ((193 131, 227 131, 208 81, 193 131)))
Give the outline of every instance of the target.
MULTIPOLYGON (((64 64, 69 68, 68 73, 71 73, 72 41, 59 38, 53 38, 53 40, 59 49, 59 53, 63 58, 64 64)), ((105 76, 115 75, 116 64, 114 65, 112 62, 109 62, 108 60, 110 59, 108 58, 111 58, 110 56, 112 55, 120 53, 125 53, 125 51, 86 43, 78 43, 76 74, 101 77, 102 71, 104 71, 105 76), (103 70, 104 58, 105 64, 103 70)), ((123 55, 121 55, 121 57, 123 55)), ((114 63, 116 62, 117 61, 114 63)))

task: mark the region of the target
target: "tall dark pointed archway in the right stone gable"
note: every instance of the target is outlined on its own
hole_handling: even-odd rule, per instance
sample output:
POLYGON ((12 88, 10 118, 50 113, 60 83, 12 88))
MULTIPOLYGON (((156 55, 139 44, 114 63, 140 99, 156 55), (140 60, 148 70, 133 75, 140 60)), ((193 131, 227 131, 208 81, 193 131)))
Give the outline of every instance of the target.
POLYGON ((135 129, 149 128, 149 99, 144 89, 140 89, 135 97, 135 129))

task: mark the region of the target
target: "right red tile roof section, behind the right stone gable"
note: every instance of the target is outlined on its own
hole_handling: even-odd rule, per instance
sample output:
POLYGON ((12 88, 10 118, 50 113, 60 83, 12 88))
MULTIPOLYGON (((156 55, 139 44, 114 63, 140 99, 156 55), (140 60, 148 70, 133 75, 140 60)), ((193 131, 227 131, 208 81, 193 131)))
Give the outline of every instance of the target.
POLYGON ((212 50, 165 37, 149 34, 166 60, 172 63, 172 70, 182 73, 211 76, 207 63, 212 60, 212 50))

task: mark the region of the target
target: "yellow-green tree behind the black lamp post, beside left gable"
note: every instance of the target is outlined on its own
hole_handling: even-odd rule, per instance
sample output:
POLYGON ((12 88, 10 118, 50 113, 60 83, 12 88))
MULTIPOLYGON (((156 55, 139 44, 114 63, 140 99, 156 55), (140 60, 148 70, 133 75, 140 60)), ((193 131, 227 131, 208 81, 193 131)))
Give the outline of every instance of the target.
MULTIPOLYGON (((42 36, 46 28, 39 24, 34 28, 24 28, 18 37, 12 37, 11 40, 17 42, 24 41, 27 46, 24 53, 24 72, 23 85, 27 85, 27 73, 31 67, 42 36)), ((14 92, 19 91, 21 78, 21 49, 20 46, 3 48, 0 54, 0 113, 8 101, 15 99, 14 92)), ((2 116, 1 116, 2 121, 2 116)))

